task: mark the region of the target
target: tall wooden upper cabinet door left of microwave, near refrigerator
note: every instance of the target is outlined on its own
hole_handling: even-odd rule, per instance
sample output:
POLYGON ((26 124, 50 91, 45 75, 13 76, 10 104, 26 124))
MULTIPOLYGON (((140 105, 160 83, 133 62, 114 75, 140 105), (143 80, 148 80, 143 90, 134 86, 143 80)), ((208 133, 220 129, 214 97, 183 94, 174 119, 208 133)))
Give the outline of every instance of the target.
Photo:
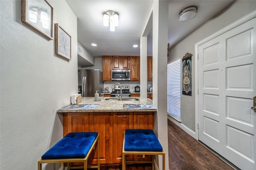
POLYGON ((103 81, 111 81, 112 73, 111 73, 111 56, 102 56, 102 80, 103 81))

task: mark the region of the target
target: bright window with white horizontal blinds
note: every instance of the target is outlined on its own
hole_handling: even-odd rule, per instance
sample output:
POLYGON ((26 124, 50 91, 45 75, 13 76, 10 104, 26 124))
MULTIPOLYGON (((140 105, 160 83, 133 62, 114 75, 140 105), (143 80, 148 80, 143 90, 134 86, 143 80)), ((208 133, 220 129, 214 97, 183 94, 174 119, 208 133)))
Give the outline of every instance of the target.
POLYGON ((167 64, 167 113, 180 121, 181 60, 167 64))

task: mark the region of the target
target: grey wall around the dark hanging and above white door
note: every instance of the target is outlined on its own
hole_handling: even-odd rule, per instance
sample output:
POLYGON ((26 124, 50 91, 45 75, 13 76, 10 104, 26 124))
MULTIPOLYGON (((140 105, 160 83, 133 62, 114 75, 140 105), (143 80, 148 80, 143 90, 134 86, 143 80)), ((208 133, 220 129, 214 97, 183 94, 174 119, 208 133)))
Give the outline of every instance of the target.
MULTIPOLYGON (((192 96, 181 95, 181 123, 195 131, 195 44, 202 39, 212 35, 220 29, 230 25, 234 21, 246 16, 256 9, 255 0, 235 1, 229 7, 225 8, 222 12, 214 18, 206 22, 204 25, 196 29, 189 36, 180 41, 177 45, 172 47, 168 53, 168 63, 174 59, 180 58, 186 54, 191 53, 192 56, 192 96)), ((200 11, 199 11, 200 12, 200 11)))

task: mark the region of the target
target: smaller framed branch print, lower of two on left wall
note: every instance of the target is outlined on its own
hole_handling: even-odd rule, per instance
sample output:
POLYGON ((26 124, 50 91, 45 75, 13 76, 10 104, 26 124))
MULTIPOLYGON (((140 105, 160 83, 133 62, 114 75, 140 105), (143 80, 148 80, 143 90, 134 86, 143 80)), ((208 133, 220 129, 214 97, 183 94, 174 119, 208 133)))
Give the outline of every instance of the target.
POLYGON ((55 23, 55 53, 71 60, 71 36, 55 23))

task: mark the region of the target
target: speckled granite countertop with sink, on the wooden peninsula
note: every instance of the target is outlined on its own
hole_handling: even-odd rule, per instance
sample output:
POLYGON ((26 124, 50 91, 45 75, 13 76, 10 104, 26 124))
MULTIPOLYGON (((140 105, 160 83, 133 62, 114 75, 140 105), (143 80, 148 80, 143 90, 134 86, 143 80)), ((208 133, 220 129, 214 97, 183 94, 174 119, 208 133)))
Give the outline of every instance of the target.
MULTIPOLYGON (((105 97, 105 98, 111 98, 111 97, 105 97)), ((157 111, 156 108, 152 106, 152 100, 149 98, 141 98, 141 97, 124 97, 124 98, 138 98, 140 100, 137 100, 137 101, 116 101, 116 100, 94 101, 94 97, 82 97, 82 102, 79 103, 78 105, 73 104, 73 105, 66 106, 66 108, 62 107, 57 110, 57 113, 63 113, 63 112, 157 111), (82 104, 85 106, 79 107, 79 106, 82 106, 82 104), (87 108, 86 108, 86 105, 88 106, 87 108), (123 108, 123 105, 126 106, 125 109, 123 108), (129 105, 131 105, 131 106, 127 107, 129 105)))

